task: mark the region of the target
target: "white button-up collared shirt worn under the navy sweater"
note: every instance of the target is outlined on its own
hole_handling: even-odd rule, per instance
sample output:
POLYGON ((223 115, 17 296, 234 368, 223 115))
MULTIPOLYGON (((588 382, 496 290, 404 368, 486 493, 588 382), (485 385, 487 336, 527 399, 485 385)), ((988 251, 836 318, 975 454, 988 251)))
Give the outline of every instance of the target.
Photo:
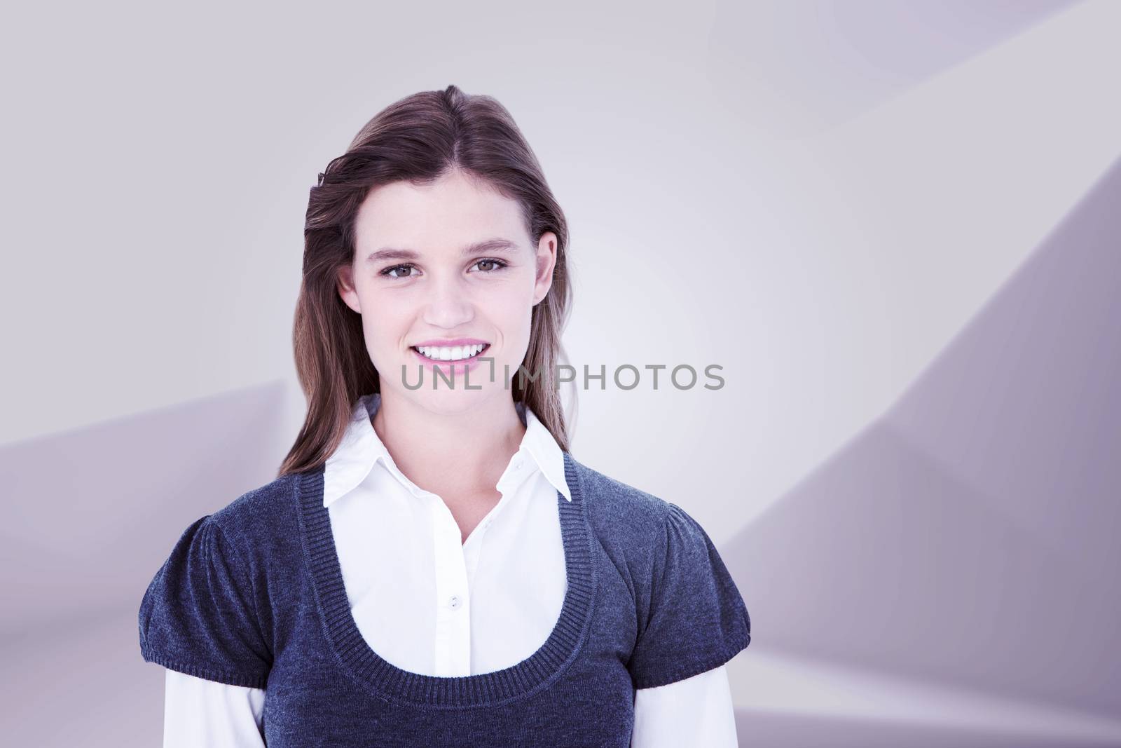
MULTIPOLYGON (((489 673, 548 639, 567 589, 557 492, 572 500, 564 453, 530 408, 495 488, 501 498, 465 541, 447 505, 396 465, 373 430, 378 394, 360 398, 324 467, 323 504, 362 638, 425 675, 489 673), (393 611, 386 615, 386 611, 393 611)), ((164 747, 260 748, 267 692, 168 669, 164 747)), ((736 745, 725 667, 634 694, 634 748, 736 745)))

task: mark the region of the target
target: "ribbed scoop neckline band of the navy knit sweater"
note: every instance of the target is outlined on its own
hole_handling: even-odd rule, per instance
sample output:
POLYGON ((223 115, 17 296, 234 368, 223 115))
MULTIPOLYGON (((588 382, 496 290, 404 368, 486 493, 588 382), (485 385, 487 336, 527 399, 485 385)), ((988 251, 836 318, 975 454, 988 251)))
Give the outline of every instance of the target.
POLYGON ((495 705, 528 695, 559 677, 587 638, 596 589, 587 510, 575 460, 568 452, 564 452, 564 469, 572 500, 560 491, 556 495, 567 590, 548 639, 515 665, 456 676, 425 675, 397 667, 362 637, 346 597, 331 516, 323 506, 325 465, 299 473, 296 484, 304 555, 328 646, 343 667, 382 698, 428 708, 495 705))

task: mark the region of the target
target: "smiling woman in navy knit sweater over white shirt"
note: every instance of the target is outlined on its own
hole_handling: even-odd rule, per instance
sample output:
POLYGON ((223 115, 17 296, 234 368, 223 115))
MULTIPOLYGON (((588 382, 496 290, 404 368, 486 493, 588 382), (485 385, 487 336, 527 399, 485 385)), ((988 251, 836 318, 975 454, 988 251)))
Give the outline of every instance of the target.
POLYGON ((747 608, 692 517, 568 451, 567 228, 507 110, 390 105, 304 233, 304 427, 141 602, 165 746, 734 746, 747 608))

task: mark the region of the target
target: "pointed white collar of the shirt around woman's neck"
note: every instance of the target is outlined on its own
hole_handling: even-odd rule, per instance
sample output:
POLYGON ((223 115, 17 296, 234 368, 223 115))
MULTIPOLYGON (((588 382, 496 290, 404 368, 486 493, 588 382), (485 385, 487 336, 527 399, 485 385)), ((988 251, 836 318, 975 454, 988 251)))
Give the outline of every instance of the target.
MULTIPOLYGON (((389 450, 373 430, 371 418, 380 405, 380 393, 363 395, 355 401, 346 433, 324 467, 324 507, 331 506, 364 481, 379 460, 406 488, 414 492, 419 490, 397 469, 389 450)), ((537 418, 532 408, 526 407, 524 403, 516 403, 515 409, 526 425, 526 434, 510 464, 517 468, 521 464, 520 455, 528 455, 532 461, 531 465, 540 470, 546 480, 560 491, 565 499, 572 501, 572 491, 565 480, 564 452, 560 445, 553 438, 552 432, 545 424, 537 418)), ((510 468, 503 473, 503 479, 510 474, 509 470, 510 468)))

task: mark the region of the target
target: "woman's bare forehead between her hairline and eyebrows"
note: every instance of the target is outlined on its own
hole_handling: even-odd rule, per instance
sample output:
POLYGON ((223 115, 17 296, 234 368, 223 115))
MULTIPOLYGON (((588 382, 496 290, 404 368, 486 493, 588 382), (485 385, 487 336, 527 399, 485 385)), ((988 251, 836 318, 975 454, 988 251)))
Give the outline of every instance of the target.
POLYGON ((391 182, 371 190, 354 231, 359 250, 390 244, 458 251, 465 242, 497 236, 526 241, 518 202, 458 172, 428 185, 391 182))

